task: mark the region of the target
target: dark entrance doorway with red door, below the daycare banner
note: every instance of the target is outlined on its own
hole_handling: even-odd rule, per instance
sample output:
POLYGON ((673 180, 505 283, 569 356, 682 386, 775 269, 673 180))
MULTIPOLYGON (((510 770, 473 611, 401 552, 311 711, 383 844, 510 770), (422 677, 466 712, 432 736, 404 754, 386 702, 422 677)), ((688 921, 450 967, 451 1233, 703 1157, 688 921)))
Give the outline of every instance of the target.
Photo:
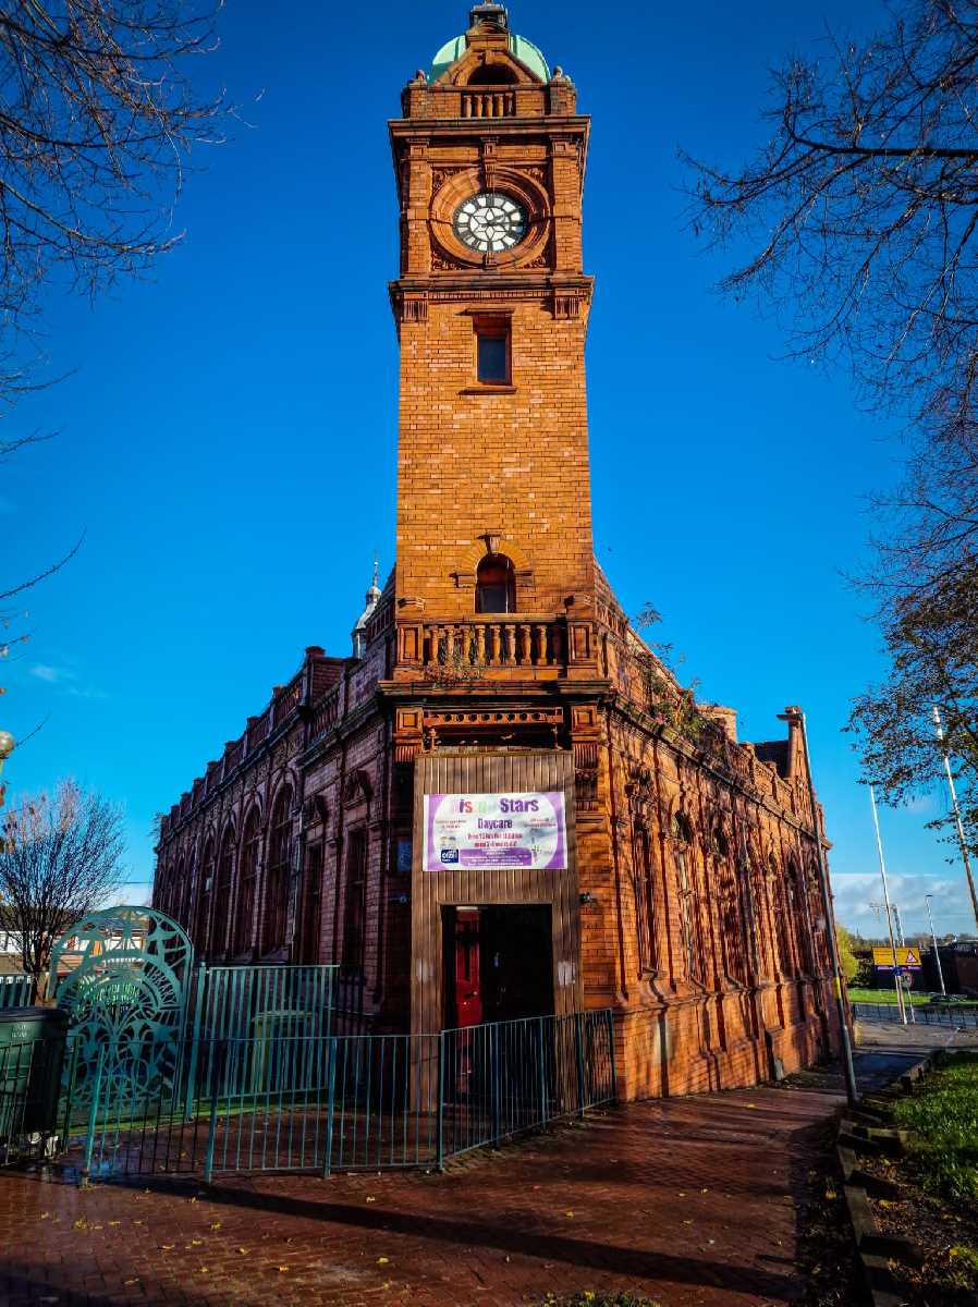
POLYGON ((553 1014, 550 908, 442 908, 446 1029, 553 1014))

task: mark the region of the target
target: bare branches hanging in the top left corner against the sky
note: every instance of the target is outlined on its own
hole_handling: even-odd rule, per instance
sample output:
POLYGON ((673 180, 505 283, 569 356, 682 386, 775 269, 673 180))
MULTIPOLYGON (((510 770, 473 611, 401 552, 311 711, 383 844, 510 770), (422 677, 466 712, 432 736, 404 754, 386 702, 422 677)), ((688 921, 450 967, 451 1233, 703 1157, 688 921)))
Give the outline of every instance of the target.
MULTIPOLYGON (((0 310, 30 327, 52 278, 89 294, 144 271, 222 97, 187 77, 221 0, 0 0, 0 310)), ((9 342, 8 342, 9 346, 9 342)), ((3 393, 29 379, 7 358, 3 393)))

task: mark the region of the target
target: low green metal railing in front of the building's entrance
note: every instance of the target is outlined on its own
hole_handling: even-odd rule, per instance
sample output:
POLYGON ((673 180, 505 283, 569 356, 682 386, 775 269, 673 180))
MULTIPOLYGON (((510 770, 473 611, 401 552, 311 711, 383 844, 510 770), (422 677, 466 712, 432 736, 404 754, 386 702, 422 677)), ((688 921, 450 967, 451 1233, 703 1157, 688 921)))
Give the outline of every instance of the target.
POLYGON ((102 1059, 81 1120, 68 1091, 64 1133, 85 1176, 441 1168, 613 1102, 613 1047, 611 1012, 434 1035, 191 1038, 183 1078, 153 1099, 102 1059))

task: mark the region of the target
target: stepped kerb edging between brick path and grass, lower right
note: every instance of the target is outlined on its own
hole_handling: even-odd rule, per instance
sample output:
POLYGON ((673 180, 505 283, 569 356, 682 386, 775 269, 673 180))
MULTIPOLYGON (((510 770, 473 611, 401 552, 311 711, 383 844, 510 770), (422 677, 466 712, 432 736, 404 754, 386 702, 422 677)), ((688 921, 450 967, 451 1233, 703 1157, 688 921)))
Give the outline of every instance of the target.
POLYGON ((868 1097, 858 1111, 841 1108, 835 1155, 842 1171, 842 1192, 846 1210, 852 1225, 852 1238, 856 1256, 863 1273, 863 1281, 873 1307, 901 1307, 905 1295, 897 1289, 889 1263, 901 1261, 905 1265, 920 1266, 923 1252, 910 1239, 892 1238, 880 1233, 876 1217, 869 1205, 869 1197, 886 1199, 896 1195, 896 1185, 877 1176, 867 1175, 858 1167, 860 1153, 869 1155, 900 1155, 905 1151, 909 1134, 906 1131, 889 1129, 879 1123, 884 1106, 873 1106, 879 1098, 898 1097, 909 1093, 917 1081, 947 1055, 947 1050, 935 1048, 919 1063, 897 1076, 889 1086, 868 1097))

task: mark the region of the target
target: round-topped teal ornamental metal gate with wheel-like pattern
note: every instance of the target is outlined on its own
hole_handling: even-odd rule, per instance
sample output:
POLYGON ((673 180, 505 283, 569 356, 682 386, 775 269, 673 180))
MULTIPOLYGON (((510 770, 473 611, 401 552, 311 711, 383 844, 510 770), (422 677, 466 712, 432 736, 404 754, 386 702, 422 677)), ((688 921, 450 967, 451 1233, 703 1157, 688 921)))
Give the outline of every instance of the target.
POLYGON ((194 966, 182 927, 145 907, 90 912, 55 945, 52 982, 69 965, 54 991, 72 1027, 68 1112, 175 1095, 194 966))

